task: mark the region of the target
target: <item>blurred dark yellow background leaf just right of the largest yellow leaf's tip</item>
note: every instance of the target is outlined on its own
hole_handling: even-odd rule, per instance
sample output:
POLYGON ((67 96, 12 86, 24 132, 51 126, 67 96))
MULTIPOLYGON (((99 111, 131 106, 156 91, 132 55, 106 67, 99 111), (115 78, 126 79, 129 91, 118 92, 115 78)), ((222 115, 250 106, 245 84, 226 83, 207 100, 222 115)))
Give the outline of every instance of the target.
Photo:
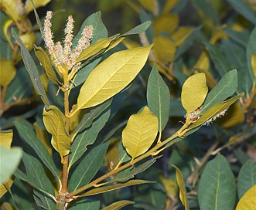
POLYGON ((172 40, 164 36, 155 36, 153 39, 155 56, 161 63, 169 63, 174 59, 176 46, 172 40))

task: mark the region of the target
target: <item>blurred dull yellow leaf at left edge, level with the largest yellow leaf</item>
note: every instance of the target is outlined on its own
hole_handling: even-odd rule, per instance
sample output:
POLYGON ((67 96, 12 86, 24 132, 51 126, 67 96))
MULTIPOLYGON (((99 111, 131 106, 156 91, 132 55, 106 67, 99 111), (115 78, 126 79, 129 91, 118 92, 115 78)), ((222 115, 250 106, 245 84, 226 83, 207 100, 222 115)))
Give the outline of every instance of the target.
POLYGON ((16 75, 16 68, 12 63, 12 60, 0 60, 0 85, 8 86, 12 82, 13 78, 16 75))

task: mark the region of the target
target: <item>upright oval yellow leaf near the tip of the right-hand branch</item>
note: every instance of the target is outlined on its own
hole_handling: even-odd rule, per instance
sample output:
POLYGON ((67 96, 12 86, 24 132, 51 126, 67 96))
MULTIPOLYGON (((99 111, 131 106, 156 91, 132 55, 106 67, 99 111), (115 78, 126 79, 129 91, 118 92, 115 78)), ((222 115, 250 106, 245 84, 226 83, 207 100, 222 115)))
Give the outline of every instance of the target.
POLYGON ((181 92, 181 102, 187 113, 196 110, 203 104, 207 97, 208 87, 207 79, 204 73, 197 73, 189 78, 183 84, 181 92))

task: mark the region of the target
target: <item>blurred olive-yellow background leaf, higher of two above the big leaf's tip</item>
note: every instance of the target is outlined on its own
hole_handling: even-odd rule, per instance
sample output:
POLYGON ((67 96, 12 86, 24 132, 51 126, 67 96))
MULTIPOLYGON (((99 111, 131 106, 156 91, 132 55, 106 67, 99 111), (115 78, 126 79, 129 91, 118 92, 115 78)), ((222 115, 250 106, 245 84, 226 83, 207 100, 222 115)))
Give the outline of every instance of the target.
POLYGON ((179 25, 179 16, 176 14, 160 15, 152 22, 152 25, 156 36, 159 35, 159 32, 167 32, 171 34, 179 25))

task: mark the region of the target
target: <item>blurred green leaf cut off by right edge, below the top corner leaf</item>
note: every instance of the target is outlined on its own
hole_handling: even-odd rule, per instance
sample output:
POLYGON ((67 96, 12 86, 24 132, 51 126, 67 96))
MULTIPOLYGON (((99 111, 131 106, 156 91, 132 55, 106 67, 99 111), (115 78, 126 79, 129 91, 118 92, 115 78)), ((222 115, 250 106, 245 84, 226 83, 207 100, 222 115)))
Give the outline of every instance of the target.
MULTIPOLYGON (((255 22, 255 15, 254 15, 254 22, 255 22)), ((256 40, 256 26, 254 27, 254 29, 251 32, 250 38, 247 42, 247 49, 246 49, 247 69, 248 69, 248 74, 252 81, 255 80, 253 69, 251 66, 252 56, 253 56, 253 54, 256 53, 255 40, 256 40)))

